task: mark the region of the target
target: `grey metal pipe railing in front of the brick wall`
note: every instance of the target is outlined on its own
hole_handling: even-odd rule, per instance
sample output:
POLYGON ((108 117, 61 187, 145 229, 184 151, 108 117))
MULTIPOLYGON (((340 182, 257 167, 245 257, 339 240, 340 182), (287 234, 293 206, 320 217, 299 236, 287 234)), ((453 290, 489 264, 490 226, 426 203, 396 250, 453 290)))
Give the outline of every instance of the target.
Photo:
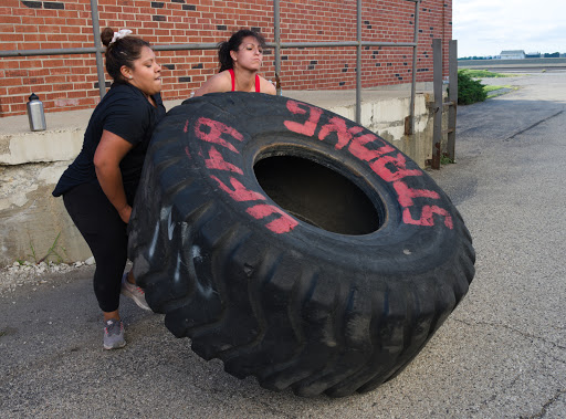
MULTIPOLYGON (((344 42, 281 42, 281 18, 280 0, 273 1, 273 21, 274 21, 274 42, 268 43, 268 46, 275 50, 275 83, 277 94, 281 94, 281 50, 292 48, 338 48, 356 46, 356 123, 359 124, 361 115, 361 49, 364 46, 391 46, 391 48, 412 48, 412 80, 411 80, 411 99, 409 105, 409 119, 406 134, 411 135, 415 130, 415 96, 417 85, 417 45, 419 35, 419 4, 422 0, 401 0, 415 3, 415 33, 413 42, 367 42, 361 41, 361 0, 356 1, 356 41, 344 42)), ((66 49, 44 49, 44 50, 12 50, 0 51, 0 57, 7 56, 31 56, 31 55, 70 55, 70 54, 92 54, 96 55, 96 72, 98 77, 98 88, 101 98, 106 93, 106 83, 104 77, 104 66, 102 53, 105 48, 102 45, 98 23, 98 1, 91 0, 92 25, 94 33, 94 46, 92 48, 66 48, 66 49)), ((187 50, 216 50, 216 43, 188 43, 172 45, 153 45, 155 51, 187 51, 187 50)))

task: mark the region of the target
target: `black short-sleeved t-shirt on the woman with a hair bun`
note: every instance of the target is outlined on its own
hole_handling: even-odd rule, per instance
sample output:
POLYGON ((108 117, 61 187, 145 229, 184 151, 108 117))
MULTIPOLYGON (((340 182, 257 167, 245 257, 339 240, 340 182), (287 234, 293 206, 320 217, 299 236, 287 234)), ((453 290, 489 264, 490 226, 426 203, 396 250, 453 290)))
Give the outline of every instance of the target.
POLYGON ((97 184, 94 153, 104 129, 116 134, 133 148, 119 164, 126 198, 132 205, 142 176, 144 159, 157 123, 165 116, 160 94, 153 96, 154 107, 142 91, 130 84, 114 83, 94 109, 84 134, 83 148, 59 180, 53 196, 59 197, 82 184, 97 184))

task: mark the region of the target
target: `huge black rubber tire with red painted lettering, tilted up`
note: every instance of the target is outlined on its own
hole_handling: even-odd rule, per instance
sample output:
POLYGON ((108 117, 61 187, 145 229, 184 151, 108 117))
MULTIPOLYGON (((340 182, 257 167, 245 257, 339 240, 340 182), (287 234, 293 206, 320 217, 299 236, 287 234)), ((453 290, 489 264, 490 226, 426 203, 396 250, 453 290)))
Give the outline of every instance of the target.
POLYGON ((461 216, 416 163, 285 97, 171 109, 134 208, 134 273, 166 326, 235 377, 300 396, 398 374, 474 275, 461 216))

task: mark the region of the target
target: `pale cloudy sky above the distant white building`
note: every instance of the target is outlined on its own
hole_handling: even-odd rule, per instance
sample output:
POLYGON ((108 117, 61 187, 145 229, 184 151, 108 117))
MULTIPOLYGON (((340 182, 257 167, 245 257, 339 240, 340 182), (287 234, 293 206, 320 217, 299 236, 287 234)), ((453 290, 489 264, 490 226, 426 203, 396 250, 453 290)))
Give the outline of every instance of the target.
POLYGON ((564 0, 452 0, 452 39, 458 56, 566 53, 564 0))

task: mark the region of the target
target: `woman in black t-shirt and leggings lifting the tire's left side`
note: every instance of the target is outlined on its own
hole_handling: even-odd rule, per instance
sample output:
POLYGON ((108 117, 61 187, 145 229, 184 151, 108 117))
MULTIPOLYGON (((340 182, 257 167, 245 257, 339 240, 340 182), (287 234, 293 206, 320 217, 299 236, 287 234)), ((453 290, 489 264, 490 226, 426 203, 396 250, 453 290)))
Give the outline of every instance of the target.
POLYGON ((148 42, 106 28, 106 71, 114 80, 94 109, 83 148, 53 191, 96 261, 94 292, 104 314, 104 348, 126 345, 118 305, 120 292, 150 310, 127 261, 127 223, 145 154, 157 123, 165 116, 161 67, 148 42))

